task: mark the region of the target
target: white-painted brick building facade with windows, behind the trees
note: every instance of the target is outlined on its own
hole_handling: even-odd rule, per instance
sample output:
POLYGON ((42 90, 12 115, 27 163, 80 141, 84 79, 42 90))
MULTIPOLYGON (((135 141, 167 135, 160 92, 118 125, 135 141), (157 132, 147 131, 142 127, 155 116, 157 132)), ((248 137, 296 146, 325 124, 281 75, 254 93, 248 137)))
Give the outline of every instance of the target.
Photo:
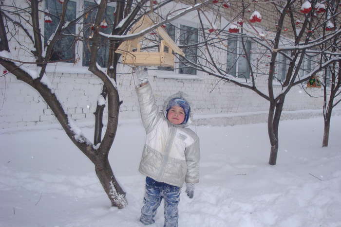
MULTIPOLYGON (((27 2, 18 4, 27 4, 27 2)), ((57 0, 44 0, 40 3, 42 11, 48 10, 51 14, 57 14, 60 10, 60 4, 57 0)), ((93 1, 86 0, 70 0, 68 7, 68 17, 73 19, 79 11, 86 7, 92 6, 93 1)), ((186 5, 174 2, 169 9, 174 7, 185 7, 186 5)), ((263 4, 264 6, 264 4, 263 4)), ((266 6, 266 5, 265 5, 266 6)), ((265 7, 264 6, 264 7, 265 7)), ((266 8, 266 7, 265 7, 266 8)), ((168 10, 169 10, 168 9, 168 10)), ((233 15, 232 11, 227 14, 233 15)), ((109 5, 108 17, 113 15, 115 4, 109 5)), ((167 9, 164 9, 166 12, 167 9)), ((266 11, 266 9, 265 9, 266 11)), ((209 14, 213 17, 212 14, 209 14)), ((46 22, 46 16, 40 15, 42 26, 42 34, 49 37, 55 27, 57 21, 51 18, 53 22, 46 22)), ((89 15, 88 18, 93 17, 89 15)), ((271 18, 277 17, 275 14, 264 15, 264 22, 259 24, 259 29, 270 31, 273 29, 271 18), (268 18, 267 18, 268 17, 268 18)), ((86 18, 86 19, 88 19, 86 18)), ((87 21, 84 19, 75 27, 70 28, 70 33, 81 33, 84 37, 91 35, 91 29, 85 29, 87 21)), ((226 19, 221 18, 216 23, 219 27, 224 27, 226 19)), ((109 26, 105 29, 110 31, 109 26)), ((181 45, 190 45, 200 41, 200 35, 193 31, 199 28, 199 20, 195 13, 190 13, 181 17, 168 25, 167 31, 169 35, 181 45), (182 38, 187 35, 186 39, 182 38)), ((208 26, 209 27, 209 26, 208 26)), ((90 28, 90 27, 89 27, 90 28)), ((32 32, 32 31, 31 31, 32 32)), ((21 61, 32 61, 32 54, 28 51, 32 47, 29 38, 22 32, 18 31, 18 40, 12 39, 11 54, 14 58, 21 61), (19 44, 18 42, 19 41, 19 44)), ((59 62, 49 64, 46 76, 51 81, 51 86, 61 101, 67 114, 76 122, 92 125, 95 117, 94 112, 97 104, 98 95, 101 93, 102 82, 88 70, 89 65, 89 43, 77 41, 76 45, 70 45, 73 41, 63 40, 58 44, 55 54, 56 60, 72 59, 69 62, 59 62)), ((103 41, 104 43, 105 41, 103 41)), ((257 45, 255 43, 247 43, 248 54, 253 55, 257 45)), ((226 64, 231 68, 230 74, 238 77, 243 73, 244 80, 250 78, 248 69, 243 59, 238 58, 234 66, 229 65, 231 59, 236 59, 241 47, 240 42, 236 38, 230 40, 226 47, 215 52, 217 61, 226 64)), ((105 43, 103 44, 105 46, 105 43)), ((185 48, 184 52, 191 61, 199 60, 198 55, 203 54, 195 48, 185 48)), ((98 64, 105 69, 105 59, 108 51, 103 47, 98 57, 98 64)), ((255 55, 253 56, 254 58, 255 55)), ((311 69, 311 62, 306 63, 306 69, 311 69), (310 66, 308 66, 310 64, 310 66)), ((278 74, 285 73, 285 64, 282 63, 278 68, 278 74)), ((5 69, 1 68, 1 72, 5 69)), ((120 100, 123 101, 120 106, 119 121, 138 119, 139 111, 135 94, 135 78, 133 77, 132 68, 129 66, 119 65, 117 68, 117 87, 120 100)), ((303 72, 304 73, 304 72, 303 72)), ((57 124, 57 120, 49 106, 40 97, 32 87, 16 79, 10 73, 4 73, 0 77, 0 128, 7 129, 22 126, 48 125, 57 124)), ((176 62, 174 69, 151 67, 149 69, 149 80, 152 84, 153 91, 157 100, 157 104, 162 108, 164 101, 171 94, 179 90, 187 93, 190 97, 191 109, 194 122, 197 124, 240 124, 240 123, 256 123, 266 122, 267 111, 269 107, 268 101, 257 95, 255 92, 238 87, 230 82, 222 81, 219 78, 186 67, 181 62, 176 62)), ((267 92, 267 77, 257 77, 258 88, 267 92)), ((280 90, 280 85, 278 86, 280 90)), ((288 118, 306 118, 311 116, 322 116, 322 90, 318 88, 306 88, 306 84, 293 87, 286 96, 284 104, 283 119, 288 118), (310 97, 310 95, 317 98, 310 97)))

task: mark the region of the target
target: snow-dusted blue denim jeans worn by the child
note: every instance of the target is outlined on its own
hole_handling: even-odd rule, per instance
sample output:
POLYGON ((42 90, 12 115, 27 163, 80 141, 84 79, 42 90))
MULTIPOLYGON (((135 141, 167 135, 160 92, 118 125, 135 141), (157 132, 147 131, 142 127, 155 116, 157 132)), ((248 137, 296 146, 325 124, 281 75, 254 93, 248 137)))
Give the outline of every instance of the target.
POLYGON ((180 201, 180 188, 166 183, 161 183, 146 178, 146 193, 143 199, 140 222, 145 225, 153 224, 156 209, 161 200, 165 199, 165 224, 164 227, 178 226, 178 204, 180 201))

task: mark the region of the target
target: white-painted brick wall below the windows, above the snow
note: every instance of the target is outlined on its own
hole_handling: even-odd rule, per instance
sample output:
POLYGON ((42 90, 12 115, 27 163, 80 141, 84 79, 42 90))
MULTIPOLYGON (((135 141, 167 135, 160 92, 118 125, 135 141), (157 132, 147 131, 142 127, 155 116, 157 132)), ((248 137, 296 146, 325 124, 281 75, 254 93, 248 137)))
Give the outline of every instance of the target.
MULTIPOLYGON (((54 72, 47 75, 66 112, 78 123, 94 124, 94 112, 102 83, 90 73, 54 72)), ((267 121, 268 102, 254 92, 219 79, 202 80, 159 78, 150 75, 157 105, 179 90, 190 97, 194 123, 197 125, 234 125, 267 121)), ((0 79, 0 128, 58 124, 56 117, 37 91, 13 75, 0 79)), ((139 119, 132 75, 118 76, 119 119, 139 119)), ((265 83, 264 83, 265 89, 265 83)), ((321 89, 313 90, 321 94, 321 89)), ((321 116, 322 98, 310 98, 301 87, 287 94, 281 120, 321 116), (300 111, 299 111, 300 110, 300 111)), ((107 115, 105 110, 104 117, 107 115)))

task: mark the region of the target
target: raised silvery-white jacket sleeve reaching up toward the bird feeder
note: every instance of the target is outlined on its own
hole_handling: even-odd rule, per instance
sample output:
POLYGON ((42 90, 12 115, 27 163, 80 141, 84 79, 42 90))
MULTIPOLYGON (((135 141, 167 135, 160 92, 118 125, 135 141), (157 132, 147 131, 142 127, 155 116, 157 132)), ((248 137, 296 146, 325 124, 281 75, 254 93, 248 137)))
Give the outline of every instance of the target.
POLYGON ((140 106, 142 123, 148 134, 153 129, 156 122, 161 120, 161 113, 156 105, 152 87, 149 82, 142 87, 136 87, 136 93, 140 106))

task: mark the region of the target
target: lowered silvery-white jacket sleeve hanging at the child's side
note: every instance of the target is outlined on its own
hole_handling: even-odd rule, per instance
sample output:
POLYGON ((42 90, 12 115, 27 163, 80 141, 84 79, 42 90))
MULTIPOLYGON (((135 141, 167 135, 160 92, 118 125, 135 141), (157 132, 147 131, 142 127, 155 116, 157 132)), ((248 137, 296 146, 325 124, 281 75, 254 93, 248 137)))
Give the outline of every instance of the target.
POLYGON ((199 160, 200 160, 200 147, 199 138, 196 137, 194 142, 186 148, 185 157, 187 163, 186 183, 199 182, 199 160))

